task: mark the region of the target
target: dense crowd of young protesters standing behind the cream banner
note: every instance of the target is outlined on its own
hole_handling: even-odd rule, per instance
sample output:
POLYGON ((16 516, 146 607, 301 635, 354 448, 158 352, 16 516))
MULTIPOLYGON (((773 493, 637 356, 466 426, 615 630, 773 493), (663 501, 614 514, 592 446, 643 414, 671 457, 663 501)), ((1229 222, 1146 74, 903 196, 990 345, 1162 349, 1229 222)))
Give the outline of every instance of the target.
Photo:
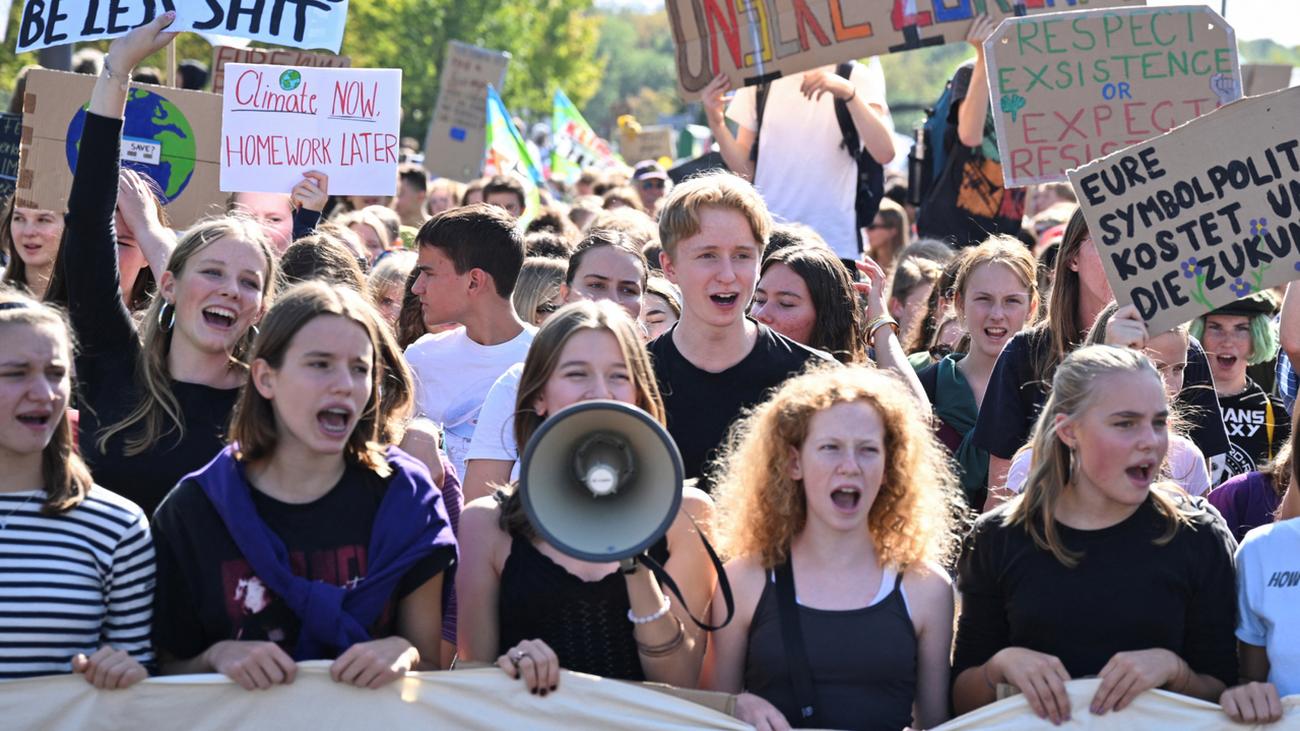
POLYGON ((762 730, 931 727, 1002 684, 1053 723, 1300 692, 1300 294, 1150 333, 1069 186, 971 209, 987 20, 919 211, 887 177, 857 216, 854 165, 893 157, 871 62, 716 79, 734 173, 589 170, 529 211, 508 176, 365 200, 304 170, 177 232, 121 159, 170 18, 113 42, 68 209, 0 222, 0 678, 485 662, 723 691, 762 730), (681 454, 672 592, 521 507, 523 447, 590 399, 681 454))

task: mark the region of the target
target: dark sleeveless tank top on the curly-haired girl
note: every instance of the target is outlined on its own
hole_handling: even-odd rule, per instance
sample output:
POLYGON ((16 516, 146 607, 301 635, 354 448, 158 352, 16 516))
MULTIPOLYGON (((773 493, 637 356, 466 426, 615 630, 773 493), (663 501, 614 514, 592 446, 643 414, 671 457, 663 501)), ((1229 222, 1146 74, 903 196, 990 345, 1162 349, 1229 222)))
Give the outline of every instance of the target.
MULTIPOLYGON (((798 606, 816 695, 814 721, 819 728, 898 731, 911 726, 916 631, 901 587, 900 572, 885 598, 862 609, 798 606)), ((797 728, 802 718, 781 639, 777 601, 770 572, 749 626, 745 689, 771 702, 797 728)))

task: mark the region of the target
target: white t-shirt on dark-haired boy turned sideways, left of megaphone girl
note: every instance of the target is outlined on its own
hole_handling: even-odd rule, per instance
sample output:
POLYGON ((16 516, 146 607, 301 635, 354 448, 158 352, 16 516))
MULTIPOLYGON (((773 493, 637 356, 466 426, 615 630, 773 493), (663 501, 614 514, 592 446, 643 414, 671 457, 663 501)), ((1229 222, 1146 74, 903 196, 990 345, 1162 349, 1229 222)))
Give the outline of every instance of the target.
POLYGON ((465 473, 465 453, 478 424, 488 390, 507 368, 528 356, 536 328, 500 345, 478 345, 464 328, 428 334, 406 350, 415 375, 416 414, 443 431, 447 457, 458 476, 465 473))

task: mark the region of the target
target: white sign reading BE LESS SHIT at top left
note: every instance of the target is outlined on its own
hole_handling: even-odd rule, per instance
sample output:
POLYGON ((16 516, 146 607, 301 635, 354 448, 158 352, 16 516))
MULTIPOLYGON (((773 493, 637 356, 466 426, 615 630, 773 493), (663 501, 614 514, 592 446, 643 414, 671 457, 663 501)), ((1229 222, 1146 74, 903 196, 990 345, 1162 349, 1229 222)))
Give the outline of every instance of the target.
POLYGON ((126 35, 174 8, 168 30, 338 53, 347 0, 27 0, 17 52, 126 35))

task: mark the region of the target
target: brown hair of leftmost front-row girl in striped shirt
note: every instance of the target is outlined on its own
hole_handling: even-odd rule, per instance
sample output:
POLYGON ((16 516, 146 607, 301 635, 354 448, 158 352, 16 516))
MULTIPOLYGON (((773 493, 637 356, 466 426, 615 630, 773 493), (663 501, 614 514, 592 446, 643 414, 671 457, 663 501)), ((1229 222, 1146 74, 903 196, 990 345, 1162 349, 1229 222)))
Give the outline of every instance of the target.
MULTIPOLYGON (((0 289, 0 333, 10 328, 51 328, 66 343, 68 368, 72 379, 73 334, 68 319, 61 310, 42 304, 30 297, 12 289, 0 289)), ((44 515, 58 515, 81 505, 90 492, 94 480, 90 470, 75 450, 75 436, 68 421, 68 407, 64 405, 58 424, 49 444, 40 453, 42 489, 46 501, 40 506, 44 515)))

